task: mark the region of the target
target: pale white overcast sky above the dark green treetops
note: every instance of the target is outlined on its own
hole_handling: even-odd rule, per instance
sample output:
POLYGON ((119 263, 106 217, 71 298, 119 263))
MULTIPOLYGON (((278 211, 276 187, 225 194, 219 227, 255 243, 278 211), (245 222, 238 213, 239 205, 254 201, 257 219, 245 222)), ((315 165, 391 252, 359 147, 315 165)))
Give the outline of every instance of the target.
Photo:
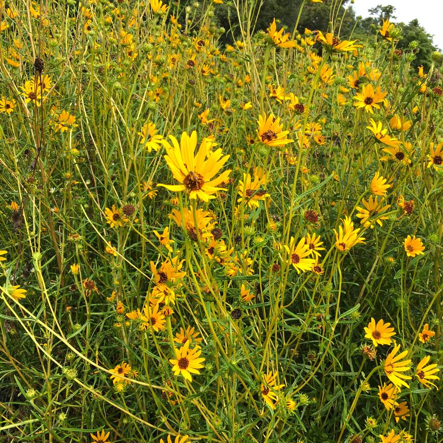
POLYGON ((420 25, 434 35, 434 45, 443 49, 443 0, 354 0, 355 15, 368 17, 368 9, 377 5, 391 4, 395 7, 395 22, 408 24, 418 19, 420 25))

